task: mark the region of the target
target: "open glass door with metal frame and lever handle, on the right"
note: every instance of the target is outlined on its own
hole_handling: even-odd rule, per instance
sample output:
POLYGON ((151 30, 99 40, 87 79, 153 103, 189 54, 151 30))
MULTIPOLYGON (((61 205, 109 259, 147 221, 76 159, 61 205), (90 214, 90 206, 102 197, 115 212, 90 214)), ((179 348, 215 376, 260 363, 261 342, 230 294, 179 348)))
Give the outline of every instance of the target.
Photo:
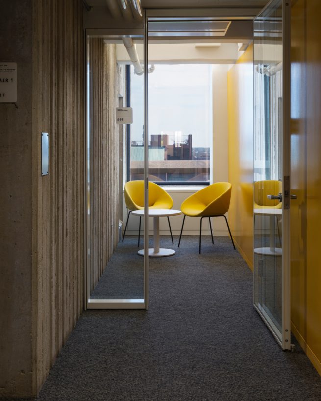
POLYGON ((290 343, 290 1, 254 20, 254 307, 290 343))

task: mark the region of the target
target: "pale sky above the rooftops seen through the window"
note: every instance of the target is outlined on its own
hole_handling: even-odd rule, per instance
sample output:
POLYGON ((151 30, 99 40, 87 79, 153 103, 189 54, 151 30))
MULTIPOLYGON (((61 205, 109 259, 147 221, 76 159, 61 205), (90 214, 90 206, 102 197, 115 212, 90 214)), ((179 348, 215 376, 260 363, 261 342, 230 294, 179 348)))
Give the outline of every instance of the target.
MULTIPOLYGON (((131 139, 142 141, 144 77, 131 67, 131 139)), ((158 64, 148 74, 149 136, 191 134, 193 147, 209 147, 212 137, 212 69, 207 64, 158 64)), ((172 143, 170 143, 172 144, 172 143)))

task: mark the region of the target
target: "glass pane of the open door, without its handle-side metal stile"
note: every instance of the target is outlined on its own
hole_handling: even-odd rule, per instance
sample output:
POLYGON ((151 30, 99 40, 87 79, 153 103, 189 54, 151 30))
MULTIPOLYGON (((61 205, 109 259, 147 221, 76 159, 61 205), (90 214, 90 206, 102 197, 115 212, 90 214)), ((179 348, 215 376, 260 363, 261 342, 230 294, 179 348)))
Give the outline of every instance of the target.
POLYGON ((254 305, 280 341, 281 193, 282 2, 274 1, 254 21, 254 305))

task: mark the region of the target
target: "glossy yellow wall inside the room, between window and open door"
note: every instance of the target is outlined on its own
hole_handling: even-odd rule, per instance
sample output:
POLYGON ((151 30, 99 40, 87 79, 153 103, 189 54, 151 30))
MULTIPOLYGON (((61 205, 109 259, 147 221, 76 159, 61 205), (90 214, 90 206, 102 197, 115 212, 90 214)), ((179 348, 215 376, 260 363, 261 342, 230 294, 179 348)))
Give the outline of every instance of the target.
POLYGON ((228 171, 232 184, 228 212, 232 235, 253 269, 253 46, 229 71, 228 171))

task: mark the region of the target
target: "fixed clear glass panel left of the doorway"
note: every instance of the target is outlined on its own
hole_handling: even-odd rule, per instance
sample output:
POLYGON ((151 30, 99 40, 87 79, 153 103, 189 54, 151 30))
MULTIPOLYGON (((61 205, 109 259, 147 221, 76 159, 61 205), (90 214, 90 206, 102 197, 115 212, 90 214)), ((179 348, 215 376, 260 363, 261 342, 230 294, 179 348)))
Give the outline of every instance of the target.
MULTIPOLYGON (((132 194, 124 196, 132 124, 140 121, 142 133, 144 125, 143 52, 134 72, 139 102, 131 99, 128 48, 136 51, 137 43, 143 50, 142 36, 87 36, 87 308, 147 308, 148 257, 137 251, 146 246, 148 231, 131 214, 132 194)), ((140 162, 144 172, 144 151, 140 162)), ((145 188, 136 189, 143 199, 145 188)))

